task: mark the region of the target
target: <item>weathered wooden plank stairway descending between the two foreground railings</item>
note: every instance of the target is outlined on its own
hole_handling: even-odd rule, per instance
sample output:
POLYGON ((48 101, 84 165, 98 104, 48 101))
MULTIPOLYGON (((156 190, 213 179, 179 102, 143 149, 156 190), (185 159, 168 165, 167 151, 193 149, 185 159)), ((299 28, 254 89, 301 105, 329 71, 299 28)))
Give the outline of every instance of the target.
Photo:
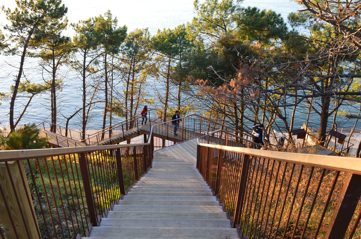
POLYGON ((92 227, 90 237, 238 239, 193 162, 173 155, 155 152, 152 169, 92 227))

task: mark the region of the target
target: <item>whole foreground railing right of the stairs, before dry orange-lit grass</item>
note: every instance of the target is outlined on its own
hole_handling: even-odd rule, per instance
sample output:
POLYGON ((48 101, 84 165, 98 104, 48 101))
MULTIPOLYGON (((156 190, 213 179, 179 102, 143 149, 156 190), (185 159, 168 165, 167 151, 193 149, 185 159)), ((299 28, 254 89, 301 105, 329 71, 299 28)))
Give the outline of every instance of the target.
POLYGON ((197 169, 240 238, 360 237, 360 160, 199 143, 197 169))

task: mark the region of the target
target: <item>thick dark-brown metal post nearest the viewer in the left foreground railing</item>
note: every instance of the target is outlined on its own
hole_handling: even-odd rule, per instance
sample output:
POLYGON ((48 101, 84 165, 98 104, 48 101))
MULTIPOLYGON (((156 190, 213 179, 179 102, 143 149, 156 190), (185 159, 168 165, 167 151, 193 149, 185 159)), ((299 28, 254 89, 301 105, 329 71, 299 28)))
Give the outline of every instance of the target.
POLYGON ((79 153, 79 168, 82 174, 84 194, 87 201, 90 223, 92 224, 92 226, 99 226, 99 222, 95 213, 95 205, 88 172, 88 162, 85 153, 79 153))

